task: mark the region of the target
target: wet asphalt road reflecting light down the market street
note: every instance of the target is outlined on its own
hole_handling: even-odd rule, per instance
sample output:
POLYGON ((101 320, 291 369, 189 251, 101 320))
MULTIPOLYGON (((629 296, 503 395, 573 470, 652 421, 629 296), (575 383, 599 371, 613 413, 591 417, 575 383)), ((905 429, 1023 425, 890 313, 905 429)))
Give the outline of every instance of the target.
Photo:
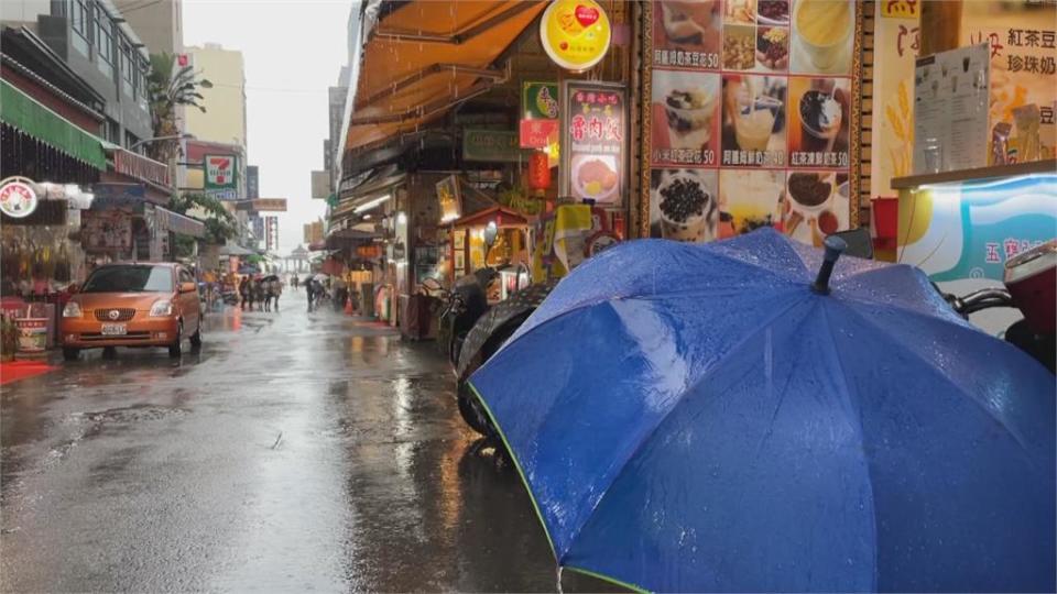
POLYGON ((434 344, 283 306, 210 315, 179 361, 95 351, 3 386, 0 588, 554 591, 434 344))

